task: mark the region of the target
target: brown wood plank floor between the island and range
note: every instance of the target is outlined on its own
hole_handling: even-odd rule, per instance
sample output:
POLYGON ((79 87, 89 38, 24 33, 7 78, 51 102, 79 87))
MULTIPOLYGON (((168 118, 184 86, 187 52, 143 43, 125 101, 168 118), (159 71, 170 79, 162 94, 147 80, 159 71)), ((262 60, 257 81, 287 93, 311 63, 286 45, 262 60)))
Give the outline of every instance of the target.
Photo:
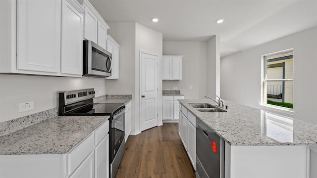
POLYGON ((130 135, 115 178, 196 178, 178 135, 178 123, 130 135))

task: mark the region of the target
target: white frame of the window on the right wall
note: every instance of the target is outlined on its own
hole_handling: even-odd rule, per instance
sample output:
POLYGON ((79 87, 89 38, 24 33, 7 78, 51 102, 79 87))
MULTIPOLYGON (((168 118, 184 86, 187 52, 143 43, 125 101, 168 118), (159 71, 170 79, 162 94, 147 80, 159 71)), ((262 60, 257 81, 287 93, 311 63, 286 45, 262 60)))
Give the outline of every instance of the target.
MULTIPOLYGON (((293 82, 293 98, 294 98, 294 61, 293 61, 293 78, 292 79, 266 79, 266 74, 267 74, 267 57, 273 56, 273 55, 278 55, 278 54, 283 54, 287 52, 293 52, 294 53, 294 48, 286 49, 286 50, 281 50, 278 52, 272 52, 268 54, 264 54, 261 56, 261 103, 260 105, 271 109, 271 110, 276 110, 276 111, 286 111, 287 114, 294 114, 294 107, 293 108, 286 108, 282 106, 276 106, 272 104, 267 104, 267 82, 293 82)), ((294 54, 293 54, 294 55, 294 54)), ((294 58, 294 56, 293 56, 294 58)), ((293 102, 294 104, 294 102, 293 102)))

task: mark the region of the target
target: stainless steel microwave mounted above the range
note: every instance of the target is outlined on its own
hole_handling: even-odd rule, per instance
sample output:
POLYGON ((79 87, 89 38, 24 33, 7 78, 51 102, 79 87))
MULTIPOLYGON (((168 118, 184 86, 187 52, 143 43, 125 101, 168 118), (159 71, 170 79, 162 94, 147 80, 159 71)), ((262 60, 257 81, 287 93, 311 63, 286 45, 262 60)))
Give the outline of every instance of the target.
POLYGON ((105 78, 111 76, 112 54, 92 41, 83 41, 83 76, 105 78))

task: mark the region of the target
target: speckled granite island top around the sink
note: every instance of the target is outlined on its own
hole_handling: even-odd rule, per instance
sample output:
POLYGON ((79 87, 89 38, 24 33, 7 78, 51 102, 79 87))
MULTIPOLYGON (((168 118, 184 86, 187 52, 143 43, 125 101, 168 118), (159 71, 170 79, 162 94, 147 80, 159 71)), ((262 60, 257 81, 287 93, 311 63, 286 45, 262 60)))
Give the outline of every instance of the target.
POLYGON ((207 99, 179 99, 216 134, 232 146, 317 145, 317 125, 225 101, 227 112, 197 111, 189 103, 215 103, 207 99))

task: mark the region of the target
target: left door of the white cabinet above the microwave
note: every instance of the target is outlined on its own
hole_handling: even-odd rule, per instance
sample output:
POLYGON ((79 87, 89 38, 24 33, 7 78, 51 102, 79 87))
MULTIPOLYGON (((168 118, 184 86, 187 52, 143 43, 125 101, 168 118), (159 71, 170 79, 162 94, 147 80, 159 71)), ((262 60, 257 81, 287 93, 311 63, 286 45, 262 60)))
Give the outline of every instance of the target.
POLYGON ((86 40, 91 40, 97 44, 97 29, 98 29, 98 19, 94 12, 92 12, 88 7, 85 7, 85 36, 86 40))

